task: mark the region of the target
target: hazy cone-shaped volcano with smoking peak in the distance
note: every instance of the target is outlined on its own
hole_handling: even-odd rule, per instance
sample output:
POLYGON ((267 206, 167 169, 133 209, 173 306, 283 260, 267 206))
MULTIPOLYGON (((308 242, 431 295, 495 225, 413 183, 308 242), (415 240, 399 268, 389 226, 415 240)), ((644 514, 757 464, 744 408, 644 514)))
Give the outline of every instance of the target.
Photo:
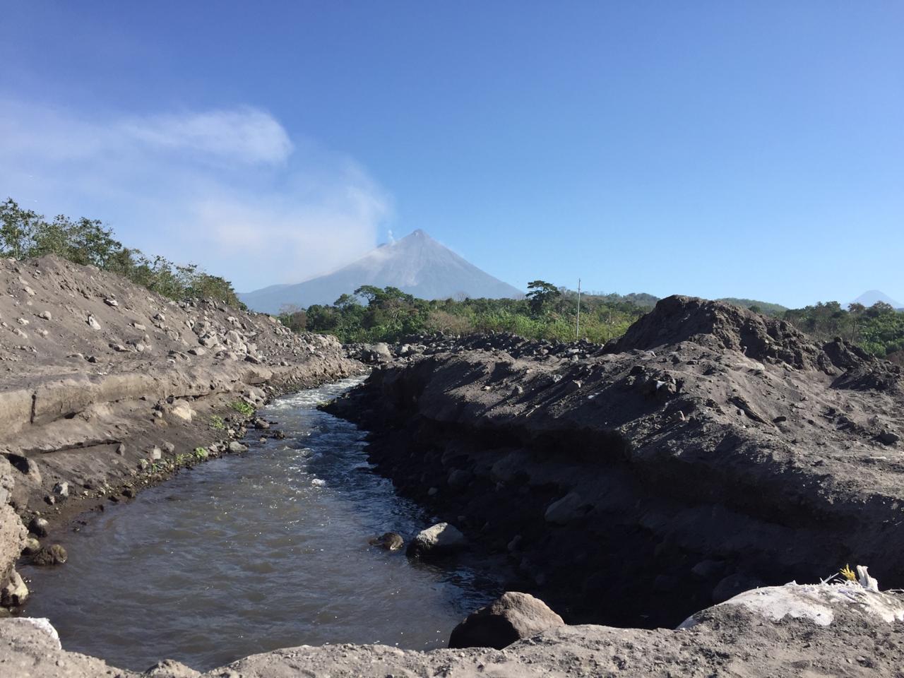
POLYGON ((485 273, 418 230, 325 276, 297 285, 264 287, 239 297, 256 311, 278 313, 286 304, 332 304, 362 285, 399 287, 423 299, 523 296, 521 290, 485 273))

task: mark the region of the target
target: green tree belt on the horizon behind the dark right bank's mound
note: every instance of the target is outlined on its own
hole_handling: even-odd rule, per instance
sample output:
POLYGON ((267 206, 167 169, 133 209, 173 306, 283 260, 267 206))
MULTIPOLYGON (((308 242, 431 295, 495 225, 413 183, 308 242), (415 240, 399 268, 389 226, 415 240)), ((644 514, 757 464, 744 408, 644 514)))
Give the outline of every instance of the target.
MULTIPOLYGON (((365 285, 330 306, 284 307, 279 319, 297 332, 335 334, 344 343, 396 342, 410 334, 511 332, 527 339, 573 341, 578 336, 578 295, 543 280, 523 299, 428 301, 396 287, 365 285)), ((580 297, 579 336, 599 344, 625 333, 655 303, 650 295, 589 294, 580 297)), ((782 318, 820 341, 843 336, 865 351, 896 359, 904 351, 904 313, 888 304, 866 308, 838 302, 788 309, 753 299, 722 301, 782 318)))

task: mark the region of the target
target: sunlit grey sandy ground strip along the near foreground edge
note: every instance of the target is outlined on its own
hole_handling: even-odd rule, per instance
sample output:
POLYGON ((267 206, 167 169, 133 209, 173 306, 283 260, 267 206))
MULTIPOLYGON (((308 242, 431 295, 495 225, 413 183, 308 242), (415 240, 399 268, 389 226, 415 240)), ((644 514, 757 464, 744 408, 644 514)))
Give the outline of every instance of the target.
MULTIPOLYGON (((502 650, 403 651, 385 645, 293 647, 205 678, 276 676, 871 676, 904 675, 904 598, 856 583, 749 591, 680 629, 551 626, 502 650)), ((146 673, 66 652, 46 620, 0 620, 0 674, 20 678, 196 678, 164 661, 146 673)))

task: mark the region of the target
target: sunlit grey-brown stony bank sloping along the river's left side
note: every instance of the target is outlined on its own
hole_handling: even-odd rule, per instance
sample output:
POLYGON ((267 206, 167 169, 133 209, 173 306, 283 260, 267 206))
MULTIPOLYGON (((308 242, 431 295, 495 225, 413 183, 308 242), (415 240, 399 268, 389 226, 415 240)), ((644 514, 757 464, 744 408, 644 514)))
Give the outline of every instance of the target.
POLYGON ((269 435, 250 414, 274 393, 361 370, 333 337, 209 300, 177 304, 56 257, 0 260, 0 290, 6 607, 25 593, 14 561, 46 546, 43 532, 179 466, 241 451, 247 427, 269 435), (38 544, 24 541, 24 523, 38 544))

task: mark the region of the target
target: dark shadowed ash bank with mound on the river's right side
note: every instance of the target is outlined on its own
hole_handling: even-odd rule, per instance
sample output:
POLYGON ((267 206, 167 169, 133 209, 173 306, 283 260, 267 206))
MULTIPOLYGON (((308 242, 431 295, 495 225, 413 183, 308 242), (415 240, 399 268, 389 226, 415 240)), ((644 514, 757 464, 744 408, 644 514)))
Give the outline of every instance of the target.
POLYGON ((904 587, 901 369, 669 297, 617 342, 428 337, 330 407, 571 623, 674 626, 867 563, 904 587))

